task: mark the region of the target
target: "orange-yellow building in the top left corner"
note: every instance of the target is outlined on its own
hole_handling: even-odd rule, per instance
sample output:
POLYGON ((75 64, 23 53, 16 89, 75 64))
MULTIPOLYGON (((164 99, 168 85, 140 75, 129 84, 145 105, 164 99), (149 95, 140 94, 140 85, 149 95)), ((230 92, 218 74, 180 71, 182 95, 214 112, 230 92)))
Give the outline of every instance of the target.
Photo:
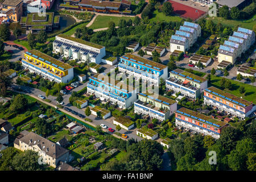
POLYGON ((4 20, 11 19, 14 22, 18 22, 20 17, 22 16, 23 13, 23 8, 22 8, 23 2, 20 2, 16 6, 11 6, 11 5, 2 5, 2 14, 5 14, 6 16, 2 16, 4 20))

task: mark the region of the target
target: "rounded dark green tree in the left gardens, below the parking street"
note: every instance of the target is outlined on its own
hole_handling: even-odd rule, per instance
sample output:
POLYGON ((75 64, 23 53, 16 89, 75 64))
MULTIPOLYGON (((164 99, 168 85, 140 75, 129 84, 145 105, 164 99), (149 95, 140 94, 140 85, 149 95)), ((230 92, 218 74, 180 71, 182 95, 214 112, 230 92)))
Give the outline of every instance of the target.
POLYGON ((20 113, 27 108, 28 101, 23 95, 18 94, 14 97, 13 102, 9 107, 11 113, 20 113))

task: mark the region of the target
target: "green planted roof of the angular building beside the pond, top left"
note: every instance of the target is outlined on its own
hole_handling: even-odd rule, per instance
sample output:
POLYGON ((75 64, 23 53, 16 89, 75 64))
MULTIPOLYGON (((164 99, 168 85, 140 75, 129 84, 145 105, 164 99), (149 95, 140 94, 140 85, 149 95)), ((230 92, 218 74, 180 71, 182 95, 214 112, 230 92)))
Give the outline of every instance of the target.
POLYGON ((54 13, 47 12, 46 16, 38 16, 38 13, 29 13, 27 14, 26 26, 42 26, 42 25, 52 26, 54 13), (46 21, 44 21, 43 18, 46 19, 46 21), (34 22, 33 20, 42 20, 42 21, 34 22))

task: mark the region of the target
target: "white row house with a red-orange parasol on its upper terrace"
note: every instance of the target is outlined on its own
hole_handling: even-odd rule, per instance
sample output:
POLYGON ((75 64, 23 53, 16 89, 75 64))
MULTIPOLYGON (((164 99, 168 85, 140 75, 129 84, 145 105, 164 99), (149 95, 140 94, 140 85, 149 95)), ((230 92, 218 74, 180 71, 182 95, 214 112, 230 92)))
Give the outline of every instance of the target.
POLYGON ((207 79, 179 68, 171 71, 170 78, 166 80, 167 90, 173 90, 175 93, 180 92, 181 96, 191 98, 192 100, 199 98, 201 92, 207 88, 207 79))

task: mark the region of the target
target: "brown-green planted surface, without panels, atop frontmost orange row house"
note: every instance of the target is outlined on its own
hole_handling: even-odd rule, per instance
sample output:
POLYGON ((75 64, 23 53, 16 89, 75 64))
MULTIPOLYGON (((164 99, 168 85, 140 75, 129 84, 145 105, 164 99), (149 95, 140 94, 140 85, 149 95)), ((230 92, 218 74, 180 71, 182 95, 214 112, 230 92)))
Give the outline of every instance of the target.
MULTIPOLYGON (((219 125, 220 127, 226 125, 225 122, 222 122, 222 121, 217 120, 217 119, 213 119, 213 118, 209 117, 208 115, 204 115, 204 114, 201 114, 201 113, 197 113, 196 111, 187 109, 187 108, 185 108, 185 107, 181 107, 181 108, 179 109, 179 111, 181 111, 181 112, 183 112, 183 113, 187 113, 187 114, 189 114, 189 115, 192 115, 192 116, 197 117, 197 118, 200 118, 200 119, 204 119, 205 121, 212 122, 212 123, 214 123, 214 124, 216 124, 216 125, 219 125)), ((177 114, 179 114, 179 113, 177 113, 177 114)), ((186 117, 188 117, 188 116, 186 115, 186 117)), ((189 117, 189 118, 195 119, 195 118, 192 118, 192 117, 189 117)), ((203 122, 203 121, 200 121, 200 122, 203 122)), ((204 122, 204 123, 207 124, 207 125, 210 125, 209 123, 206 123, 206 122, 204 122)), ((211 126, 216 127, 216 126, 214 126, 214 125, 211 125, 211 126)), ((220 128, 220 127, 219 127, 219 128, 220 128)))

